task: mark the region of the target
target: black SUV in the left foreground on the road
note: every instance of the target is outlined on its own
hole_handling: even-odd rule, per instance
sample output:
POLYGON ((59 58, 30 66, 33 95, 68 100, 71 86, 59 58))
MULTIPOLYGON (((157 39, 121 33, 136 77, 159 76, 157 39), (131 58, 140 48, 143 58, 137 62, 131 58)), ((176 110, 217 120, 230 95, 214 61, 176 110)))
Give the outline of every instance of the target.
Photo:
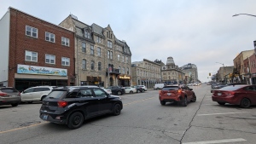
POLYGON ((53 89, 44 98, 40 118, 77 129, 85 119, 107 113, 116 116, 122 109, 123 103, 119 96, 109 95, 96 86, 60 87, 53 89))

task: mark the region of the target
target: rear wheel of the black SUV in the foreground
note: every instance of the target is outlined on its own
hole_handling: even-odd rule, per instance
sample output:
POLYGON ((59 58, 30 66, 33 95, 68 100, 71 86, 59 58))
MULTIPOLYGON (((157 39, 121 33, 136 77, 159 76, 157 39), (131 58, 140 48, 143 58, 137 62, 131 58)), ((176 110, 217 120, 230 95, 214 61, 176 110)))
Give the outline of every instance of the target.
POLYGON ((84 123, 84 115, 81 112, 73 112, 68 118, 67 126, 70 129, 78 129, 84 123))

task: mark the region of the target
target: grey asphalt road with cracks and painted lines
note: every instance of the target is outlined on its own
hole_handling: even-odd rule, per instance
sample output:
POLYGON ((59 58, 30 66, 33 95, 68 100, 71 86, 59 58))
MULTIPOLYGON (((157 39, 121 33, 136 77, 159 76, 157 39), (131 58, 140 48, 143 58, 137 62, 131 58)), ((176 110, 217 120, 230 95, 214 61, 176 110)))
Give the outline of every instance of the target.
POLYGON ((256 143, 255 106, 219 106, 211 99, 209 85, 190 88, 197 101, 188 107, 161 106, 158 90, 121 95, 124 109, 119 116, 93 118, 77 130, 41 120, 40 102, 0 106, 0 143, 256 143))

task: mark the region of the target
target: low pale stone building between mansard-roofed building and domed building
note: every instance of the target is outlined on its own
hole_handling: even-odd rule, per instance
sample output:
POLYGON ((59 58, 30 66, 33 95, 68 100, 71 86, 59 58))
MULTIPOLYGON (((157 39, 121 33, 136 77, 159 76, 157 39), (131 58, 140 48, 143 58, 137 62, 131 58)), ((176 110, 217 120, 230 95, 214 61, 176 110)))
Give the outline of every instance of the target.
POLYGON ((151 60, 135 61, 131 64, 132 85, 145 85, 154 88, 161 83, 160 64, 151 60))

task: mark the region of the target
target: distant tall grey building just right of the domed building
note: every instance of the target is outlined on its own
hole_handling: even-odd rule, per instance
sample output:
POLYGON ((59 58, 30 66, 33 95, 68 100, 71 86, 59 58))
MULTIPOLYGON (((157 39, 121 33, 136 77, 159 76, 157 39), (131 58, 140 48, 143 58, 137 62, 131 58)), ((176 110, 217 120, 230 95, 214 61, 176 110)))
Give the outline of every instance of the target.
POLYGON ((185 80, 187 84, 199 81, 197 66, 195 64, 188 63, 187 65, 181 66, 181 69, 185 73, 185 80))

